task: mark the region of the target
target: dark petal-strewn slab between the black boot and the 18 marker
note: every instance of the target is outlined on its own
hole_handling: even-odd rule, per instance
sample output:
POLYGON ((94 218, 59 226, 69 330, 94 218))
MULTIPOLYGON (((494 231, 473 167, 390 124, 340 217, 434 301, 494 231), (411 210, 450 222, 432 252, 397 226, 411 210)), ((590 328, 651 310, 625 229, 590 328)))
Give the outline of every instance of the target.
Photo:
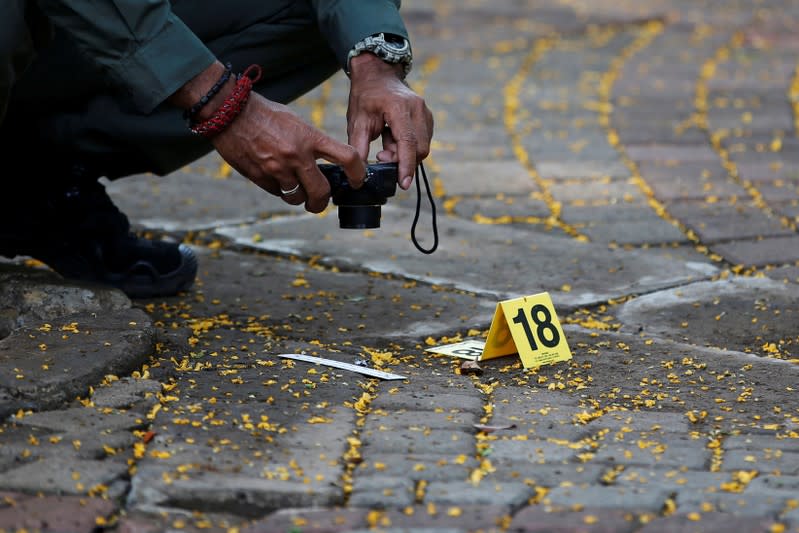
MULTIPOLYGON (((286 227, 295 229, 293 225, 286 227)), ((273 227, 260 230, 247 227, 241 231, 246 235, 243 238, 252 243, 254 232, 260 231, 266 236, 273 227)), ((342 237, 345 236, 361 239, 357 232, 345 233, 342 237)), ((394 243, 398 241, 399 238, 392 239, 394 243)), ((271 242, 265 239, 255 244, 268 246, 271 242)), ((412 247, 410 243, 404 246, 412 247)), ((172 302, 176 308, 190 306, 196 317, 213 319, 225 314, 229 324, 217 323, 214 329, 249 324, 250 329, 260 328, 262 336, 324 339, 326 343, 385 337, 423 339, 490 322, 496 307, 493 299, 436 290, 391 276, 331 270, 257 253, 235 254, 199 247, 196 252, 200 262, 198 297, 185 304, 180 303, 179 298, 172 302), (388 303, 393 305, 390 312, 386 307, 388 303)), ((418 252, 417 255, 421 256, 418 252)), ((156 316, 164 316, 171 322, 175 312, 177 309, 167 307, 164 314, 156 316)), ((242 338, 246 342, 252 336, 242 335, 242 338)), ((193 351, 197 353, 204 349, 202 345, 196 348, 193 351)), ((349 353, 357 353, 357 349, 349 353)))

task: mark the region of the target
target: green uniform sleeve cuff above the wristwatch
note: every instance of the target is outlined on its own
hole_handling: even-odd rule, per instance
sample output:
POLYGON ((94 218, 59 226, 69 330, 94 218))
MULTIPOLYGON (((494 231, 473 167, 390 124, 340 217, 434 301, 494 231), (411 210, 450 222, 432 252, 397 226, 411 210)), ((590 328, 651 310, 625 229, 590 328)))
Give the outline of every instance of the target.
POLYGON ((408 39, 399 14, 400 0, 311 0, 319 30, 327 38, 342 67, 355 43, 376 33, 408 39))

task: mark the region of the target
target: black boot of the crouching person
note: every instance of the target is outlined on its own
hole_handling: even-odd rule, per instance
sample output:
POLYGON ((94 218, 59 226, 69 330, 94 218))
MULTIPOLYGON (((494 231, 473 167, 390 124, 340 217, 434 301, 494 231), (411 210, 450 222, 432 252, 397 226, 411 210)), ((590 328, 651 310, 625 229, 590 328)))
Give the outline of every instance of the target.
POLYGON ((4 195, 1 255, 30 256, 65 278, 112 285, 131 298, 191 287, 197 258, 188 246, 136 236, 97 174, 80 166, 65 174, 4 195))

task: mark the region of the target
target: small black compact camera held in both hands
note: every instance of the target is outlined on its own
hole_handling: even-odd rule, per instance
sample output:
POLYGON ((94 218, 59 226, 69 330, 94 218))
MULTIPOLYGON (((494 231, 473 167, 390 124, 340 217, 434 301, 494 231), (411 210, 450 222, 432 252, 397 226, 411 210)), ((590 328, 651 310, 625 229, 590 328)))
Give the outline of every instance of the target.
POLYGON ((338 165, 322 163, 319 170, 330 182, 333 205, 338 206, 340 228, 369 229, 380 227, 380 206, 397 192, 397 164, 373 163, 366 167, 360 189, 353 189, 347 174, 338 165))

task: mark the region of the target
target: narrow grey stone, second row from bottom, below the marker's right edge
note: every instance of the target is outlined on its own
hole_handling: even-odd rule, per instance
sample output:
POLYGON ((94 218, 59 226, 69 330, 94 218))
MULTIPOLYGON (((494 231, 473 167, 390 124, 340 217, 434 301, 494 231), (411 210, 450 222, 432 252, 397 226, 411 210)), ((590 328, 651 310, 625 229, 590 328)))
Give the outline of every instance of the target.
POLYGON ((658 487, 575 486, 556 487, 541 503, 553 510, 601 508, 627 510, 637 513, 659 512, 669 494, 658 487))

